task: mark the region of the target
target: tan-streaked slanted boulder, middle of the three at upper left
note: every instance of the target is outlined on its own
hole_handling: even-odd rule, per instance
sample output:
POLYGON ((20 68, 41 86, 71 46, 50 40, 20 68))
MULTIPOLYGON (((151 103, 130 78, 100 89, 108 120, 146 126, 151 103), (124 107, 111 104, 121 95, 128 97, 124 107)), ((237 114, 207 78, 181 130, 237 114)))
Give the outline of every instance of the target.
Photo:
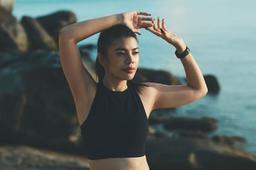
POLYGON ((44 30, 36 19, 23 16, 21 24, 28 33, 29 50, 58 50, 54 39, 44 30))

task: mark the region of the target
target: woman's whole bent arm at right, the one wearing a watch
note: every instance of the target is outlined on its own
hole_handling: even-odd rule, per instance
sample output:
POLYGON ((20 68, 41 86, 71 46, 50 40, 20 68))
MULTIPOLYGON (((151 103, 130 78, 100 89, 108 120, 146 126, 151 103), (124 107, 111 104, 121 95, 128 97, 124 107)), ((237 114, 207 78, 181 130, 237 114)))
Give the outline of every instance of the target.
MULTIPOLYGON (((157 18, 157 27, 154 20, 152 20, 152 23, 154 24, 154 29, 151 29, 150 27, 145 27, 145 29, 172 44, 177 49, 178 54, 184 52, 186 49, 184 40, 180 36, 175 35, 166 29, 164 19, 162 27, 160 26, 159 17, 157 18)), ((154 85, 153 91, 155 94, 152 110, 189 104, 206 95, 208 89, 205 84, 204 77, 191 52, 185 58, 180 58, 180 61, 182 62, 186 72, 187 84, 169 86, 150 82, 150 84, 154 85)))

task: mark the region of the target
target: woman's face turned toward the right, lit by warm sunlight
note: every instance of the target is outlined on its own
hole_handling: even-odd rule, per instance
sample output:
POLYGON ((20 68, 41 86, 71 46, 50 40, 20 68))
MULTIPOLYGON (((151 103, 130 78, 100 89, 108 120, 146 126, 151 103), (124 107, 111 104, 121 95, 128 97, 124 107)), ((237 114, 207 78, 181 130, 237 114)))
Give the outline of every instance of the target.
POLYGON ((105 64, 105 75, 115 79, 131 80, 138 68, 138 43, 133 37, 117 38, 108 48, 108 59, 105 64), (124 69, 134 67, 133 72, 124 69))

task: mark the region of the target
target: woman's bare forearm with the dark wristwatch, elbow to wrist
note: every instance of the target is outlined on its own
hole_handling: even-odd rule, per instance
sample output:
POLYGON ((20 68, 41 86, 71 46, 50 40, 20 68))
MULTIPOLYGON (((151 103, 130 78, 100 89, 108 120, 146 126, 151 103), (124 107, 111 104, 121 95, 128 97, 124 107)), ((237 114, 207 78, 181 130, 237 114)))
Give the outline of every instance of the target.
MULTIPOLYGON (((186 45, 182 44, 177 47, 178 54, 182 53, 186 49, 186 45)), ((187 84, 191 88, 198 89, 198 91, 202 91, 203 93, 207 92, 207 86, 205 84, 204 76, 197 65, 195 59, 192 54, 189 53, 185 58, 181 58, 180 61, 184 66, 184 70, 186 72, 187 84)))

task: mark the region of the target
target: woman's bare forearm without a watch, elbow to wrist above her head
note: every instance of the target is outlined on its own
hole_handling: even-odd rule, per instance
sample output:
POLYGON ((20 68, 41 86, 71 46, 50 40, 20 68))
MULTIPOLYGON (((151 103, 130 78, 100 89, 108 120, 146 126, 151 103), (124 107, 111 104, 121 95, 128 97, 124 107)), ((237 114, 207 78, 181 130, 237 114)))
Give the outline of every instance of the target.
POLYGON ((67 36, 70 40, 74 40, 77 43, 84 40, 85 38, 99 33, 104 29, 107 29, 108 27, 120 24, 121 21, 122 13, 90 20, 83 20, 81 22, 76 22, 74 24, 63 27, 59 31, 59 34, 67 36))

